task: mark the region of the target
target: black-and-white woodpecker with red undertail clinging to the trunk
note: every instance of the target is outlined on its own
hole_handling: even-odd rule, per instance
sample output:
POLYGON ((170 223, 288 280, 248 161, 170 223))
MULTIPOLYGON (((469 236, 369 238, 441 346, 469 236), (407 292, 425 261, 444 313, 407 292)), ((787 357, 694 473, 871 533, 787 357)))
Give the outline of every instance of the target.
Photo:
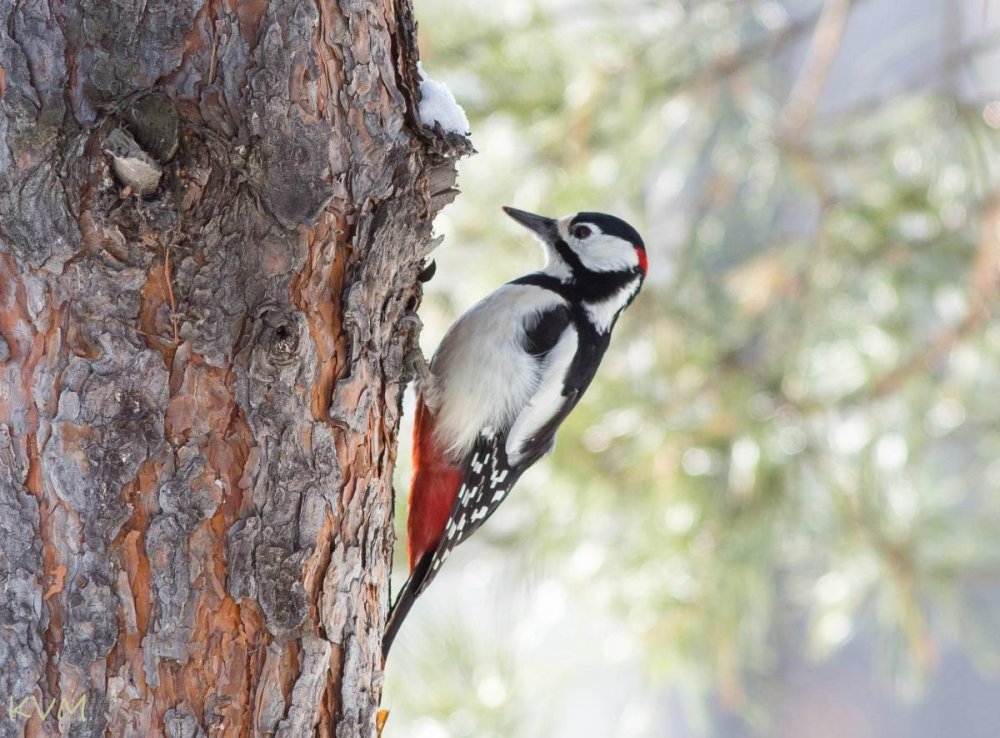
POLYGON ((452 549, 552 450, 646 276, 642 238, 619 218, 504 211, 541 241, 545 266, 476 303, 430 366, 417 367, 410 577, 389 614, 383 656, 452 549))

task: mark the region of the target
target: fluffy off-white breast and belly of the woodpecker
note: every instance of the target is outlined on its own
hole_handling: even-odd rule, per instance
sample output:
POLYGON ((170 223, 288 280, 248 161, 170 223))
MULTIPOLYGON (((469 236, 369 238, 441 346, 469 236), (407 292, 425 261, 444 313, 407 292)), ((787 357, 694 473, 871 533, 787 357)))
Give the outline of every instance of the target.
POLYGON ((565 300, 533 285, 504 285, 473 305, 445 334, 431 361, 424 399, 436 413, 436 439, 449 456, 472 450, 484 429, 507 428, 540 380, 522 345, 524 324, 565 300))

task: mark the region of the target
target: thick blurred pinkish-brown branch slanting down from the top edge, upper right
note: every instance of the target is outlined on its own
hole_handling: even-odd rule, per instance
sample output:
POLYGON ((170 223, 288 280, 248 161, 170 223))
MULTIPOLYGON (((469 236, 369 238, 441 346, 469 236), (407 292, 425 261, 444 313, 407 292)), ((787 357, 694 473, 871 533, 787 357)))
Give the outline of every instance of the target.
POLYGON ((801 140, 812 120, 844 37, 852 4, 853 0, 827 0, 823 6, 802 72, 779 116, 779 138, 789 143, 801 140))

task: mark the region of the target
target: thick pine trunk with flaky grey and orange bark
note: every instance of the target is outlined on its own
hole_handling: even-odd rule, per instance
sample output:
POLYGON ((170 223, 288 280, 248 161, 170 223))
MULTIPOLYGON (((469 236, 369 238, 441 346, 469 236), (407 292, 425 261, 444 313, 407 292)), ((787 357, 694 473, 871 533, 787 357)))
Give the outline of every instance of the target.
POLYGON ((371 735, 400 318, 468 151, 409 0, 0 19, 0 736, 371 735))

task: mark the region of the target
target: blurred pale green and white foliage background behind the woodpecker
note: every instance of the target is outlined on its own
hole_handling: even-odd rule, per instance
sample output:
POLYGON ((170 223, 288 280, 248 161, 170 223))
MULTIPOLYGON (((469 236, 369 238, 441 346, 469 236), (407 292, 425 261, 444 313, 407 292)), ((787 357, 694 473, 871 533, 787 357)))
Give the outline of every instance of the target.
POLYGON ((501 205, 651 272, 404 626, 386 738, 1000 735, 1000 2, 416 5, 479 151, 425 352, 540 265, 501 205))

